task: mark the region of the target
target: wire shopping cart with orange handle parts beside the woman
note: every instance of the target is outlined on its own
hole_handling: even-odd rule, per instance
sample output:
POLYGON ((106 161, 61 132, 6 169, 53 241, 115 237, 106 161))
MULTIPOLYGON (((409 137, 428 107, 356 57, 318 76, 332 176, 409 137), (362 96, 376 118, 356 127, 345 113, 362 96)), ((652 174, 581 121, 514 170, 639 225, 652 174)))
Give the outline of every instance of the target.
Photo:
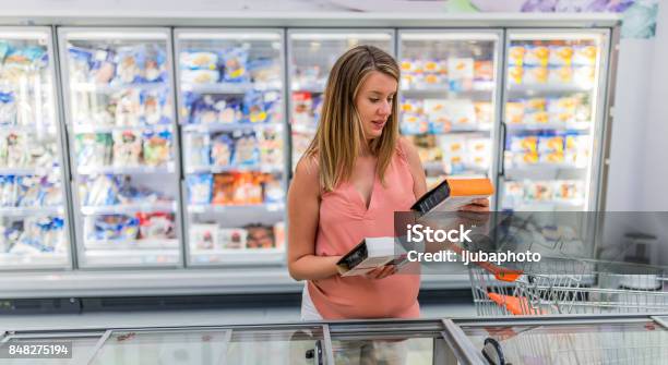
POLYGON ((480 316, 668 312, 668 275, 633 264, 544 258, 509 269, 472 263, 480 316), (623 273, 619 273, 623 272, 623 273))

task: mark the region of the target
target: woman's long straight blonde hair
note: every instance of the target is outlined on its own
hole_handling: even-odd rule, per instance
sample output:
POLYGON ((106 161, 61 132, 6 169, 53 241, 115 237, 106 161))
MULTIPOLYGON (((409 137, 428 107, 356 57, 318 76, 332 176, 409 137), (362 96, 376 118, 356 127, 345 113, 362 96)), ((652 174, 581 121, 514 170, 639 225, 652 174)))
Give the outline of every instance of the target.
MULTIPOLYGON (((399 68, 392 56, 373 46, 357 46, 345 52, 334 64, 323 95, 322 113, 315 137, 305 153, 317 157, 320 167, 320 184, 325 192, 333 191, 347 181, 360 153, 367 143, 355 100, 372 71, 379 71, 399 82, 399 68)), ((384 182, 385 171, 392 160, 398 139, 398 106, 396 95, 392 112, 380 137, 369 145, 378 157, 377 171, 384 182)))

